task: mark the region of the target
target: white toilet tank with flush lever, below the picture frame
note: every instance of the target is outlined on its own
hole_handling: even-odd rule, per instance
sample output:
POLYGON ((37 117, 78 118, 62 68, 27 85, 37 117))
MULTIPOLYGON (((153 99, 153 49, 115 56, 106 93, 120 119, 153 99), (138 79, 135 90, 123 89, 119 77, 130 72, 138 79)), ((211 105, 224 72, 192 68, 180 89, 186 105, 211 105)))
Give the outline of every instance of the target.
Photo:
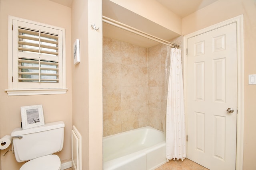
POLYGON ((62 150, 64 127, 64 122, 58 121, 30 129, 14 129, 11 136, 17 162, 32 160, 62 150))

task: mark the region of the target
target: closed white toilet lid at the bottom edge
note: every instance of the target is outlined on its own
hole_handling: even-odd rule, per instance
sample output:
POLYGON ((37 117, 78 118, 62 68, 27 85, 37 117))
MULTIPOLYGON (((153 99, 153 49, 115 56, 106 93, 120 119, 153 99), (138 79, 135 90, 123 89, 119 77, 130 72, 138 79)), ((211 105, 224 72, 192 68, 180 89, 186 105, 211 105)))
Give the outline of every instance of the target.
POLYGON ((50 154, 26 162, 20 170, 60 170, 60 158, 50 154))

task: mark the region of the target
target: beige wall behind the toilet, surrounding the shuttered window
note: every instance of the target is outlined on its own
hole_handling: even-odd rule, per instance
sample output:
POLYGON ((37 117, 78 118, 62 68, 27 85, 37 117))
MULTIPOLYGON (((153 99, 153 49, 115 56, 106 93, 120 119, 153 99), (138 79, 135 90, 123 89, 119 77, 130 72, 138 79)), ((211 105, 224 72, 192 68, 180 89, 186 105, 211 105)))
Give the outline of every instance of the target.
MULTIPOLYGON (((42 104, 45 123, 61 120, 65 123, 64 147, 57 154, 60 156, 62 162, 70 161, 70 136, 72 128, 70 8, 48 0, 1 0, 0 37, 2 61, 2 65, 0 66, 0 137, 10 135, 14 128, 20 127, 21 106, 42 104), (56 12, 56 9, 58 9, 58 12, 56 12), (8 89, 8 15, 66 29, 67 94, 8 96, 4 91, 8 89)), ((2 156, 5 151, 1 150, 2 170, 19 169, 23 163, 16 162, 14 154, 11 152, 8 152, 6 156, 2 156)))

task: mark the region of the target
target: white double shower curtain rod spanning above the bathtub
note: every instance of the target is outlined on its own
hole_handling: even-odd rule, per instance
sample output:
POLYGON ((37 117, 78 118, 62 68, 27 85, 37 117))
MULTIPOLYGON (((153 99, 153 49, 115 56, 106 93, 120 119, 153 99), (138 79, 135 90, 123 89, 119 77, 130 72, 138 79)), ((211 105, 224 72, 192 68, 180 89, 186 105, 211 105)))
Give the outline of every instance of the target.
POLYGON ((145 33, 143 31, 140 31, 139 29, 136 29, 134 27, 131 27, 129 25, 126 25, 124 23, 121 23, 121 22, 118 22, 116 20, 112 20, 106 16, 102 16, 102 21, 105 22, 105 23, 108 23, 110 25, 113 25, 115 27, 118 27, 118 28, 121 28, 121 29, 124 29, 126 31, 129 31, 131 33, 135 33, 137 35, 140 35, 142 37, 145 37, 145 38, 148 38, 148 39, 151 39, 153 41, 156 41, 158 43, 162 43, 162 44, 165 44, 165 45, 168 45, 168 46, 171 46, 171 47, 174 47, 174 48, 179 48, 180 45, 178 45, 177 43, 171 43, 171 42, 168 42, 168 41, 165 41, 164 39, 160 39, 158 37, 155 37, 153 35, 150 35, 148 33, 145 33))

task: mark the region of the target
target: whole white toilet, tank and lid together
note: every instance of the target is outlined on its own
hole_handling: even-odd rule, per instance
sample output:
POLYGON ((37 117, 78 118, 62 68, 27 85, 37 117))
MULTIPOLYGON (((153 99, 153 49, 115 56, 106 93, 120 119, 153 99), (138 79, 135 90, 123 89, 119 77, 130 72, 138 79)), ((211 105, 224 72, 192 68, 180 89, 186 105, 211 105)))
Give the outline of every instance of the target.
POLYGON ((60 170, 60 158, 53 154, 62 150, 63 121, 45 123, 43 126, 12 131, 15 158, 26 162, 20 170, 60 170))

